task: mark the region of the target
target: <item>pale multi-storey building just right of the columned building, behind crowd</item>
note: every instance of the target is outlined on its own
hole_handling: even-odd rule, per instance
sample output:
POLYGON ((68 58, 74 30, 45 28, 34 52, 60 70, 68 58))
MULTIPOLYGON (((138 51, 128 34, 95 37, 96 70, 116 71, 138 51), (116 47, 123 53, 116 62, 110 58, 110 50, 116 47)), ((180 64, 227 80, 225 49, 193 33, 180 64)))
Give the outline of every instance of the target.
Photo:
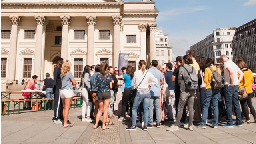
POLYGON ((168 46, 168 35, 156 30, 156 60, 158 64, 172 61, 172 47, 168 46))

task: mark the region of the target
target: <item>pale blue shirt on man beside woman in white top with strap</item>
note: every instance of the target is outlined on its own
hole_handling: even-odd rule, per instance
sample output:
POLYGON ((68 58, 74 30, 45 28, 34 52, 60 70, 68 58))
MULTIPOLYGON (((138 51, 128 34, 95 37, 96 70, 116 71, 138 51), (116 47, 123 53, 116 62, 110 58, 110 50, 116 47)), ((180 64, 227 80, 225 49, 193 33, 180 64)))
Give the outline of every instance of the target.
POLYGON ((154 84, 153 86, 151 86, 149 88, 150 95, 160 97, 161 80, 164 78, 162 75, 162 72, 160 70, 158 70, 156 67, 149 68, 148 71, 151 72, 153 74, 153 76, 158 80, 157 84, 154 84))

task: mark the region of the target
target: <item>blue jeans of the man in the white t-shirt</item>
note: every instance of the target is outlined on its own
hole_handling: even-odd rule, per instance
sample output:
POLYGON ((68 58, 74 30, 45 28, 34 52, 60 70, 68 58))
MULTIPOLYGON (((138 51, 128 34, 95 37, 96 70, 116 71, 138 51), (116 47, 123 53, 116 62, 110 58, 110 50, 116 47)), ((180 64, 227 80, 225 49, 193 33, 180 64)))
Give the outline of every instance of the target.
POLYGON ((242 124, 241 118, 241 109, 238 101, 238 86, 224 86, 225 94, 225 104, 226 104, 226 113, 227 113, 227 124, 233 125, 232 119, 232 103, 234 104, 235 113, 236 113, 236 123, 238 125, 242 124))

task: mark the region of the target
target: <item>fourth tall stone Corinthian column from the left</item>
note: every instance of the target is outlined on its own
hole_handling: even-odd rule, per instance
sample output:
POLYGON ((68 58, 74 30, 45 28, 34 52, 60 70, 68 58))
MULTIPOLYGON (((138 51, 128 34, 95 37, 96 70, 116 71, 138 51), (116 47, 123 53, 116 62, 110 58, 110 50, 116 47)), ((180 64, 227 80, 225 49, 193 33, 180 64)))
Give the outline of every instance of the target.
POLYGON ((96 16, 86 16, 88 24, 88 38, 87 38, 87 63, 88 65, 94 64, 94 25, 96 24, 96 16))

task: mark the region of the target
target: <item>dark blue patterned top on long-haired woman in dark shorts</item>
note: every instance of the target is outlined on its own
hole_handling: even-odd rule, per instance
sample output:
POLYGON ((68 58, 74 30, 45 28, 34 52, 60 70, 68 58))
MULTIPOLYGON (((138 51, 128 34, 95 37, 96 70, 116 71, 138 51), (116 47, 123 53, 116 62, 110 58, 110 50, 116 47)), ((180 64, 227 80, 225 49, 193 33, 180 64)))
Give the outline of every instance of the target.
POLYGON ((99 92, 110 92, 110 82, 112 81, 112 78, 109 74, 105 74, 102 76, 101 74, 98 74, 96 77, 96 86, 99 92))

